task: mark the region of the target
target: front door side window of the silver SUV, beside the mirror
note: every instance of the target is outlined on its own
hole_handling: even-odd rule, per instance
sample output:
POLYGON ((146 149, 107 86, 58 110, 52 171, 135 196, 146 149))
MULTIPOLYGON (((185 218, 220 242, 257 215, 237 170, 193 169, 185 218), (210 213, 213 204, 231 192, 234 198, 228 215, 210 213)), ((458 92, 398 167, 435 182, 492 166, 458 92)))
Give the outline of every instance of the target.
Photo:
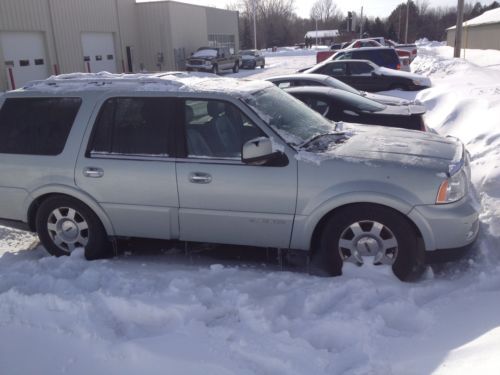
POLYGON ((241 160, 245 142, 265 136, 235 105, 219 100, 186 100, 188 157, 241 160))

